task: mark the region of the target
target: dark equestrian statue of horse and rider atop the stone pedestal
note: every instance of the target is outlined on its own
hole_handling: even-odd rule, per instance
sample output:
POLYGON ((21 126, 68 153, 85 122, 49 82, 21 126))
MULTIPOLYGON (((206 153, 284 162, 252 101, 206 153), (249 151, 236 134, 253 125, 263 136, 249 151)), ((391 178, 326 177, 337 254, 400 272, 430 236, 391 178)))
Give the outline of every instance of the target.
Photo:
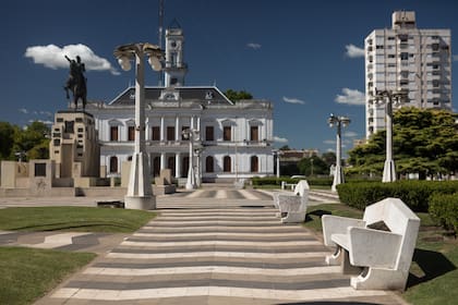
POLYGON ((76 56, 76 61, 70 59, 65 56, 65 59, 70 62, 70 75, 69 80, 65 83, 63 89, 67 94, 67 99, 70 99, 69 90, 72 91, 73 95, 73 103, 75 105, 75 110, 77 110, 77 102, 81 99, 83 103, 83 111, 86 108, 86 77, 84 76, 83 72, 86 71, 84 63, 81 62, 81 58, 76 56))

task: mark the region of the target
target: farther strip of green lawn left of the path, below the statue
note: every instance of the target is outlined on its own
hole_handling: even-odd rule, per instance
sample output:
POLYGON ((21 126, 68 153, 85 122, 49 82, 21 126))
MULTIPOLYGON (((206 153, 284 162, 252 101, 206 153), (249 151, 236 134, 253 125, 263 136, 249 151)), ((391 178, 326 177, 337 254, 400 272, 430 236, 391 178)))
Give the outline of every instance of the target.
POLYGON ((154 212, 91 207, 20 207, 0 209, 0 230, 130 233, 154 212))

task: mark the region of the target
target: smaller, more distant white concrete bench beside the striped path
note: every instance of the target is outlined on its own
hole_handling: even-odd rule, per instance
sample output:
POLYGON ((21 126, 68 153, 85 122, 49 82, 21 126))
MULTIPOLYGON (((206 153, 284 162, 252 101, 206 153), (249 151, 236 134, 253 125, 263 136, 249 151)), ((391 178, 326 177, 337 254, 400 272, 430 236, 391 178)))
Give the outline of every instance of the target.
POLYGON ((281 222, 303 222, 305 219, 306 204, 309 200, 309 183, 301 180, 293 192, 274 193, 274 205, 279 209, 281 222))

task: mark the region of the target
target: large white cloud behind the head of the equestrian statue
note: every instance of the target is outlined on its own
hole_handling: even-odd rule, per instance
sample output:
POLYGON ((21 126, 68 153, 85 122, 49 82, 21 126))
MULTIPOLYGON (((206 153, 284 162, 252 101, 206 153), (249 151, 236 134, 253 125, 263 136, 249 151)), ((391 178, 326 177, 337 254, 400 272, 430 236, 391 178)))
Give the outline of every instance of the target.
POLYGON ((86 70, 109 71, 113 75, 120 74, 108 60, 98 57, 93 50, 91 50, 89 47, 82 44, 68 45, 62 48, 56 45, 33 46, 25 50, 24 56, 26 58, 32 58, 34 63, 43 64, 50 69, 68 69, 69 62, 64 56, 68 56, 71 59, 80 56, 86 66, 86 70))

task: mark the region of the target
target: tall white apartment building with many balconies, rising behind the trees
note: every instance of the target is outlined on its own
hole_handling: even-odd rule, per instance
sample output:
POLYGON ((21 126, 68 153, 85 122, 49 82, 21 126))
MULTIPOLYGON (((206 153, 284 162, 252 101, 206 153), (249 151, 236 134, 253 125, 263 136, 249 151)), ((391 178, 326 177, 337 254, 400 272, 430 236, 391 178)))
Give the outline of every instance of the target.
POLYGON ((451 110, 450 29, 420 29, 415 13, 393 13, 391 28, 374 29, 364 40, 365 113, 369 138, 385 129, 385 106, 376 90, 408 90, 401 106, 451 110))

